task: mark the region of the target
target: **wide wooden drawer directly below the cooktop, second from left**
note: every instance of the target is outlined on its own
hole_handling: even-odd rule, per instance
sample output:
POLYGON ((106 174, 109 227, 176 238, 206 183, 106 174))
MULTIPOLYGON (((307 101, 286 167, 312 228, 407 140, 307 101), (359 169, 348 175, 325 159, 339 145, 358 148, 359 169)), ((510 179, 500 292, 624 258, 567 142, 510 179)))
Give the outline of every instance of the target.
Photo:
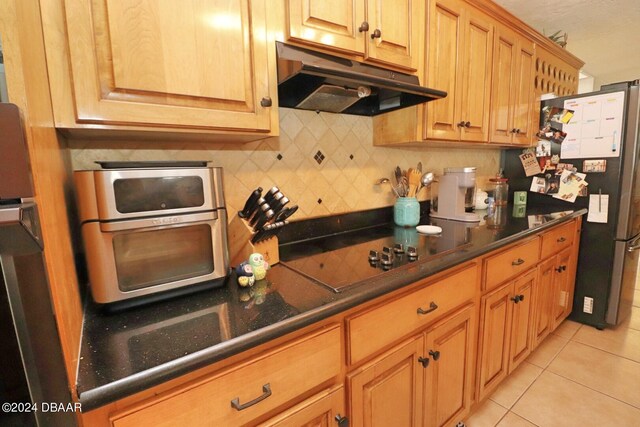
POLYGON ((436 282, 425 280, 424 288, 347 319, 350 363, 363 360, 473 299, 477 271, 477 265, 472 264, 436 282))

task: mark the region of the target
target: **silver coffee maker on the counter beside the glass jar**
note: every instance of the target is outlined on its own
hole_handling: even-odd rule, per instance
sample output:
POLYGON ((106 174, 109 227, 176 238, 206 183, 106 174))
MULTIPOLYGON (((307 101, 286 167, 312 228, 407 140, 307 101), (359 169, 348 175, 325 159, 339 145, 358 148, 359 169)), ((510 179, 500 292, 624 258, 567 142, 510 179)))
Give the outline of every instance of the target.
POLYGON ((432 202, 431 217, 464 222, 479 222, 480 217, 467 212, 473 206, 476 168, 445 168, 438 186, 438 200, 432 202))

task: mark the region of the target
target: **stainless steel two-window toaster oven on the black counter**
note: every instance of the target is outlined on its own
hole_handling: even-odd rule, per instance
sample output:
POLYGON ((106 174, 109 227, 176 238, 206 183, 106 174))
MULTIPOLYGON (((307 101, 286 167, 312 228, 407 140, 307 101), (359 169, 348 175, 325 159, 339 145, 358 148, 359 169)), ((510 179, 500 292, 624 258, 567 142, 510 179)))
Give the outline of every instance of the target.
POLYGON ((77 171, 74 181, 96 302, 223 284, 229 252, 221 168, 77 171))

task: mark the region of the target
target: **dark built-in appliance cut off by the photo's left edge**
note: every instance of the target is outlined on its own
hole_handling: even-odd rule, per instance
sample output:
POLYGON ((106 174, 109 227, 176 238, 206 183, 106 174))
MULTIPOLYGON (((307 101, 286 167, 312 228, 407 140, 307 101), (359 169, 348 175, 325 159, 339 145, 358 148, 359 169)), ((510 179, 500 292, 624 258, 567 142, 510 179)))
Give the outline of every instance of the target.
POLYGON ((0 103, 0 425, 73 426, 20 113, 0 103))

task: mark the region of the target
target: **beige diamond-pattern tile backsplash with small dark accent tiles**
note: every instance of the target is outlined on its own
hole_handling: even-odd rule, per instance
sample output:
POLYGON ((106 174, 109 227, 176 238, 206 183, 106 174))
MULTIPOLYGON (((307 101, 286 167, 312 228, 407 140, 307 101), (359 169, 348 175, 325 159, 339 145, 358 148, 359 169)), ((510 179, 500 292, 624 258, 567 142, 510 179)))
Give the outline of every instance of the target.
MULTIPOLYGON (((476 166, 478 183, 499 168, 499 149, 374 147, 372 119, 280 109, 280 137, 238 143, 69 141, 74 170, 95 169, 97 160, 209 160, 224 168, 229 218, 251 191, 276 185, 300 209, 293 219, 391 206, 394 196, 379 178, 396 165, 442 173, 444 167, 476 166)), ((427 198, 427 191, 419 194, 427 198)))

